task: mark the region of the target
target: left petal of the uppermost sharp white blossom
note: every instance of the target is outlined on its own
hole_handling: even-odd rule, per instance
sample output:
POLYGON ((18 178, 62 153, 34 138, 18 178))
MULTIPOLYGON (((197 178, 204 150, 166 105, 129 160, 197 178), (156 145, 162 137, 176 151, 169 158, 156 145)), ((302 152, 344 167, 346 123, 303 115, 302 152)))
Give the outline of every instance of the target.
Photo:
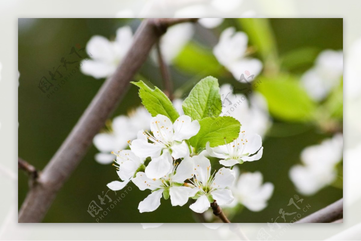
POLYGON ((136 139, 132 141, 130 149, 140 158, 159 157, 162 147, 155 143, 148 143, 144 139, 136 139))

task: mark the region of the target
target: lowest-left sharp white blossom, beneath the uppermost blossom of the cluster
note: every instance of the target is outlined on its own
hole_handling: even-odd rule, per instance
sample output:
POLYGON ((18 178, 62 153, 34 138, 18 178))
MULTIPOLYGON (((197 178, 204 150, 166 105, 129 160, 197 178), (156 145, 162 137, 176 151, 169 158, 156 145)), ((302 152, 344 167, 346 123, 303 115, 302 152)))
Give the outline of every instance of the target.
POLYGON ((184 158, 181 163, 175 163, 173 168, 160 179, 147 178, 144 172, 138 172, 132 180, 140 189, 150 189, 149 194, 142 202, 139 203, 140 212, 152 212, 160 206, 160 199, 170 197, 172 206, 183 206, 187 203, 192 188, 183 187, 184 180, 192 178, 194 163, 190 157, 184 158))

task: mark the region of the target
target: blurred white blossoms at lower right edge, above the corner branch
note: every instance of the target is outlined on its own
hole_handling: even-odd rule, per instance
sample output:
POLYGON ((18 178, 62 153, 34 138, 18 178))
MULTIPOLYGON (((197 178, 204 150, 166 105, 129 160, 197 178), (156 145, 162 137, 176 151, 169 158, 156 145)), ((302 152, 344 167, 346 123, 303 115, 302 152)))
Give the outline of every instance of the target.
POLYGON ((291 167, 289 173, 298 192, 313 195, 330 185, 336 179, 335 165, 342 160, 342 150, 342 134, 336 134, 319 145, 305 148, 301 153, 304 165, 291 167))

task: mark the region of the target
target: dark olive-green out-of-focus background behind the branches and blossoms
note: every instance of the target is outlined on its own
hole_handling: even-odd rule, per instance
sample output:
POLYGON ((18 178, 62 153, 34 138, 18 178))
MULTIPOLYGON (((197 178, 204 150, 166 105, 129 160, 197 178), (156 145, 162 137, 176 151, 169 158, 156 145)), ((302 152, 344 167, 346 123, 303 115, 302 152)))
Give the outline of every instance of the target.
MULTIPOLYGON (((270 19, 280 58, 300 48, 309 49, 309 57, 313 60, 323 49, 343 48, 342 19, 270 19)), ((62 57, 67 56, 72 47, 79 44, 85 47, 93 35, 114 38, 118 27, 129 24, 135 31, 140 20, 132 19, 19 19, 18 34, 18 68, 21 74, 18 88, 18 155, 32 163, 39 170, 43 169, 55 154, 59 146, 86 109, 93 96, 99 90, 104 79, 94 79, 83 75, 80 71, 69 78, 68 82, 50 98, 38 88, 39 80, 48 71, 60 64, 62 57)), ((223 26, 232 25, 232 19, 226 19, 223 26)), ((199 27, 197 27, 199 28, 199 27)), ((197 29, 196 28, 196 29, 197 29)), ((219 34, 224 29, 213 30, 219 34)), ((239 27, 242 30, 242 27, 239 27)), ((201 31, 196 31, 193 39, 201 39, 201 31)), ((252 43, 250 43, 252 44, 252 43)), ((209 47, 209 46, 208 46, 209 47)), ((70 58, 70 57, 69 57, 70 58)), ((291 73, 301 74, 312 67, 305 63, 297 68, 288 69, 291 73)), ((74 69, 74 68, 71 68, 74 69)), ((69 73, 69 71, 68 71, 69 73)), ((62 72, 65 76, 66 71, 62 72)), ((140 73, 158 87, 162 87, 158 67, 148 60, 140 73)), ((200 71, 201 73, 201 71, 200 71)), ((201 78, 207 76, 204 74, 201 78)), ((174 87, 183 86, 186 80, 194 75, 171 67, 174 87)), ((222 83, 234 83, 230 75, 215 76, 222 83)), ((49 78, 49 77, 48 77, 49 78)), ((197 80, 197 81, 198 81, 197 80)), ((118 105, 112 118, 126 114, 130 109, 140 105, 138 89, 131 86, 127 95, 118 105)), ((288 177, 290 167, 300 163, 300 152, 309 145, 314 145, 329 137, 317 128, 306 123, 283 123, 274 119, 274 124, 263 139, 264 154, 260 161, 245 162, 242 170, 260 171, 264 181, 274 184, 274 193, 269 205, 260 212, 243 209, 235 215, 232 222, 271 222, 279 216, 278 210, 287 211, 288 201, 295 194, 304 198, 302 207, 309 204, 314 212, 343 196, 343 190, 327 187, 314 196, 305 197, 297 193, 288 177), (287 135, 279 134, 281 129, 287 135)), ((82 162, 61 188, 55 201, 45 216, 44 222, 50 223, 92 223, 96 218, 87 212, 92 200, 106 192, 106 184, 118 178, 114 167, 100 165, 94 160, 97 153, 94 146, 88 150, 82 162)), ((110 198, 118 201, 117 206, 109 208, 108 214, 99 222, 109 223, 168 223, 196 222, 192 211, 188 208, 190 201, 182 206, 172 207, 169 200, 161 200, 161 206, 153 212, 140 214, 137 207, 149 192, 140 191, 134 184, 129 184, 131 191, 117 193, 109 191, 110 198)), ((21 206, 28 190, 27 176, 19 171, 18 205, 21 206)), ((125 189, 126 190, 126 189, 125 189)), ((105 205, 104 205, 105 206, 105 205)), ((278 219, 278 222, 283 222, 278 219)))

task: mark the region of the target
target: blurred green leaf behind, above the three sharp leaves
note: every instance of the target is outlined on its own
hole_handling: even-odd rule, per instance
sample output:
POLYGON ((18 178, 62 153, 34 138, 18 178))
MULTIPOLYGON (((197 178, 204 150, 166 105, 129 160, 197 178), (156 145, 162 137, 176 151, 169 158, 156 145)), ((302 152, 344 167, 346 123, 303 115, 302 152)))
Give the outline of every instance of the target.
POLYGON ((179 69, 191 74, 207 73, 216 75, 224 71, 216 57, 214 57, 212 49, 205 48, 193 41, 184 46, 173 62, 179 69))

